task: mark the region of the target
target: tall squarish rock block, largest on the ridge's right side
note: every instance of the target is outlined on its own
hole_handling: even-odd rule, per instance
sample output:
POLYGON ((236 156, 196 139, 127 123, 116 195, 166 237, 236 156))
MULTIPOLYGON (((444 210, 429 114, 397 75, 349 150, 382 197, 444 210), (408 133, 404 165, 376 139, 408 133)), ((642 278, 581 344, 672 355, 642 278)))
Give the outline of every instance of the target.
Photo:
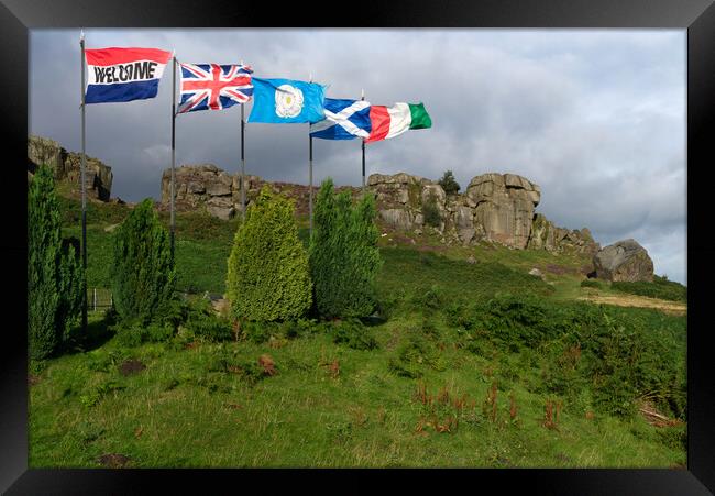
POLYGON ((476 203, 474 219, 490 241, 525 249, 531 234, 534 209, 539 205, 538 185, 515 174, 483 174, 473 178, 466 196, 476 203))

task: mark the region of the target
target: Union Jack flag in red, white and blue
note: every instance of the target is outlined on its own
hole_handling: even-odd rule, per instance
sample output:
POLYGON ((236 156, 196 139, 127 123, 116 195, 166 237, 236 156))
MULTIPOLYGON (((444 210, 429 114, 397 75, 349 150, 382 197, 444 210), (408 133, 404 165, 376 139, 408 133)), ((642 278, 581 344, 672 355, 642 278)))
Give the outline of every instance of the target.
POLYGON ((244 65, 179 64, 182 101, 178 113, 221 110, 245 103, 253 95, 251 74, 244 65))

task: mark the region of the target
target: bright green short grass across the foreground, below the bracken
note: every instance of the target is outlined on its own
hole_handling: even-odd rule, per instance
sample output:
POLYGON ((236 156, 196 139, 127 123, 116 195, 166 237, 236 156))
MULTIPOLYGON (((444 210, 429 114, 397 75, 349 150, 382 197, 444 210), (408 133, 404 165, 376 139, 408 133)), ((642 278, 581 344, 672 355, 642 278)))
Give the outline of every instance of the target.
POLYGON ((586 418, 587 395, 563 399, 557 429, 544 428, 546 400, 559 396, 535 392, 540 372, 525 366, 528 355, 483 357, 454 349, 454 333, 441 323, 437 328, 443 334, 435 346, 443 345, 443 366, 418 363, 420 378, 394 374, 389 357, 420 332, 420 322, 402 316, 377 326, 378 348, 372 351, 315 333, 283 340, 280 348, 230 342, 122 349, 109 341, 58 357, 31 387, 30 466, 99 466, 106 453, 124 454, 130 466, 142 467, 684 463, 683 447, 637 416, 586 418), (215 368, 220 356, 255 362, 265 353, 278 373, 255 384, 215 368), (124 377, 117 365, 130 357, 146 368, 124 377), (328 367, 333 361, 339 363, 337 375, 328 367), (494 381, 497 415, 492 421, 482 404, 494 381), (460 411, 435 401, 437 423, 451 415, 459 418, 450 432, 425 425, 430 409, 416 395, 422 384, 435 397, 442 388, 452 398, 466 395, 468 406, 460 411), (510 394, 518 408, 514 420, 510 394))

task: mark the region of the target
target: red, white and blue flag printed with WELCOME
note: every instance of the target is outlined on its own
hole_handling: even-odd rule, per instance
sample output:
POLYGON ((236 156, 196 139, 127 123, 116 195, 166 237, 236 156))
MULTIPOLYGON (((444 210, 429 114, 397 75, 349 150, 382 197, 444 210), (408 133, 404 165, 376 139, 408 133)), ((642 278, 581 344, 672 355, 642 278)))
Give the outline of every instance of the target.
POLYGON ((85 103, 156 97, 158 81, 169 58, 172 52, 156 48, 86 49, 85 103))

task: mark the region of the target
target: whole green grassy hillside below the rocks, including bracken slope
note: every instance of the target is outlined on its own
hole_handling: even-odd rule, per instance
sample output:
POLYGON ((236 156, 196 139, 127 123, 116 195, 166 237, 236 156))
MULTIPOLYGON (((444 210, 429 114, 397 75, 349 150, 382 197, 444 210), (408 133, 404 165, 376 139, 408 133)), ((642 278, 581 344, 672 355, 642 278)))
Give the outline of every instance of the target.
MULTIPOLYGON (((77 205, 64 210, 77 235, 77 205)), ((106 228, 125 213, 88 214, 90 287, 108 286, 106 228)), ((178 216, 184 290, 223 291, 237 227, 178 216)), ((239 341, 186 324, 128 346, 92 313, 30 377, 30 466, 684 466, 684 316, 579 301, 617 291, 581 287, 575 255, 392 232, 381 252, 364 322, 239 341)))

